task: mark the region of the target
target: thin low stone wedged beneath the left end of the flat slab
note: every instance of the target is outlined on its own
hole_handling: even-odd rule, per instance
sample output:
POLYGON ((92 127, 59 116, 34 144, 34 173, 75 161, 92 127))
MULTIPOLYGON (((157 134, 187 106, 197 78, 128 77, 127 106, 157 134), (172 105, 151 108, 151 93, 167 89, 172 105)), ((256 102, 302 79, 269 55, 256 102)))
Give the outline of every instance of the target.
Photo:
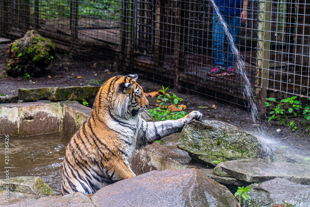
POLYGON ((213 169, 198 169, 201 173, 205 174, 209 178, 215 180, 216 182, 227 184, 227 185, 237 185, 237 186, 247 186, 250 182, 239 180, 232 177, 223 177, 213 174, 213 169))

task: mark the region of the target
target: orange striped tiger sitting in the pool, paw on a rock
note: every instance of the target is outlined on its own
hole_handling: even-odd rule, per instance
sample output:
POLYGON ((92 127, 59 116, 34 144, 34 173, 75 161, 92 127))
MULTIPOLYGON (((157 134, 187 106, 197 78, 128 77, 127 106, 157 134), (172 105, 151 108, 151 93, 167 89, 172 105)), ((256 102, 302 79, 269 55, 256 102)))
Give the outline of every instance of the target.
POLYGON ((202 114, 192 111, 177 120, 147 122, 149 106, 137 74, 117 75, 99 89, 86 119, 71 137, 62 165, 61 194, 93 194, 120 180, 135 177, 130 163, 136 149, 181 132, 202 114))

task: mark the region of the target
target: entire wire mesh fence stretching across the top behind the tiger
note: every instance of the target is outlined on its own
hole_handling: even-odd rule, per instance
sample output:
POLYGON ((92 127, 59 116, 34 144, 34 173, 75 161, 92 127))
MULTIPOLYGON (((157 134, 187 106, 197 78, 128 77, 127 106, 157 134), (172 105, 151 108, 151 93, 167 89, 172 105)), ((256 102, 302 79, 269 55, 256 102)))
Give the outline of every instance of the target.
POLYGON ((233 35, 246 63, 239 73, 211 1, 2 0, 0 34, 16 39, 36 29, 72 56, 106 58, 120 70, 226 101, 243 98, 240 72, 257 98, 308 97, 310 0, 215 0, 230 30, 240 30, 233 35))

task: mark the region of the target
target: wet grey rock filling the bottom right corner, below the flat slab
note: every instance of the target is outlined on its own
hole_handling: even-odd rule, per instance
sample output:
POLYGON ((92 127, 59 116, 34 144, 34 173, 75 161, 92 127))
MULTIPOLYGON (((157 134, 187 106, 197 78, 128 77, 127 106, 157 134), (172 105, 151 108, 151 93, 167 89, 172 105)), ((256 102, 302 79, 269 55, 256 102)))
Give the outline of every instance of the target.
POLYGON ((294 206, 310 207, 310 186, 296 184, 286 179, 275 178, 266 182, 254 183, 250 192, 251 202, 245 201, 243 207, 294 206))

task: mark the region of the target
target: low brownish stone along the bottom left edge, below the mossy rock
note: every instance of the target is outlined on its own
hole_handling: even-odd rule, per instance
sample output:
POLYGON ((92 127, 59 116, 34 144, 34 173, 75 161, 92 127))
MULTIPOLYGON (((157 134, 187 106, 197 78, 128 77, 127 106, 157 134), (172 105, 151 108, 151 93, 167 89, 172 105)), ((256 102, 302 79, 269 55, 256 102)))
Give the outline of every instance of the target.
MULTIPOLYGON (((92 207, 95 206, 88 196, 82 193, 72 193, 65 196, 47 196, 39 198, 38 200, 34 197, 24 197, 18 200, 9 199, 9 203, 3 203, 4 206, 14 207, 59 207, 59 206, 80 206, 80 207, 92 207)), ((0 201, 1 202, 1 201, 0 201)), ((126 205, 126 204, 124 204, 126 205)), ((98 205, 100 206, 100 205, 98 205)))

